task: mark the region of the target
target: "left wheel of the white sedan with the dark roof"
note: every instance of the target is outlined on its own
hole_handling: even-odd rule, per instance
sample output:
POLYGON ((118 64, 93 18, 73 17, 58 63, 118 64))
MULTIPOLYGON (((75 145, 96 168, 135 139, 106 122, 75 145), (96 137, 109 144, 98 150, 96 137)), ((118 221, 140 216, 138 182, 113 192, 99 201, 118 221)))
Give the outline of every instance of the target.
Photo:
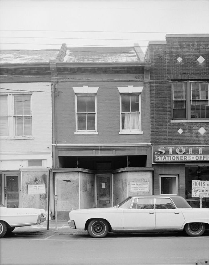
POLYGON ((92 237, 105 237, 108 233, 108 223, 106 220, 93 219, 89 223, 87 230, 92 237))

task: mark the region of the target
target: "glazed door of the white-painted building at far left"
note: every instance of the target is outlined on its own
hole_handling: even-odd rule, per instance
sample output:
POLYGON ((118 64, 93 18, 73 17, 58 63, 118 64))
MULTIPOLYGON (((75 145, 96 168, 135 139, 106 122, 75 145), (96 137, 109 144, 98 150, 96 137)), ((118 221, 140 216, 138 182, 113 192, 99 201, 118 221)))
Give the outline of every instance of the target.
POLYGON ((4 175, 4 198, 6 207, 19 207, 18 174, 4 175))

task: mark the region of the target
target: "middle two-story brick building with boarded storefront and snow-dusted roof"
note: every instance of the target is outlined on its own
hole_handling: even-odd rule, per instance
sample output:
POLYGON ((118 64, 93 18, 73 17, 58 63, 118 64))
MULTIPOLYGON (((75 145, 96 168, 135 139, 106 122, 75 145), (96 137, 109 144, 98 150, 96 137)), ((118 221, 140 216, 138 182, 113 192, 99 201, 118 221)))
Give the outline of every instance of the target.
POLYGON ((63 48, 53 86, 58 216, 152 194, 149 60, 138 45, 63 48))

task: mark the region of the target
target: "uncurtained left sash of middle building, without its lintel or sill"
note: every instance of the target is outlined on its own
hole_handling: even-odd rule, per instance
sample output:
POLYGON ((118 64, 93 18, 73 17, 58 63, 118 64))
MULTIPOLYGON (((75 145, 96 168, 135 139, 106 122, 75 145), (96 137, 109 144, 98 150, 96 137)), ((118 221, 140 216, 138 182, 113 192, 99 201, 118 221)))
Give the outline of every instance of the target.
POLYGON ((96 96, 77 95, 77 131, 96 131, 96 96))

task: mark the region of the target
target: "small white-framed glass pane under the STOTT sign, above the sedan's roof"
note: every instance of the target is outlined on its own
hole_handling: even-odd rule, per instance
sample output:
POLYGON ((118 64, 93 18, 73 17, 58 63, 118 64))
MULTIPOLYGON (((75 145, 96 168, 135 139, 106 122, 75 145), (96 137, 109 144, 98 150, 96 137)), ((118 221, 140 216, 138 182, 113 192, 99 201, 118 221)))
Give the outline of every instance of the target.
POLYGON ((160 175, 160 194, 178 195, 178 175, 160 175))

